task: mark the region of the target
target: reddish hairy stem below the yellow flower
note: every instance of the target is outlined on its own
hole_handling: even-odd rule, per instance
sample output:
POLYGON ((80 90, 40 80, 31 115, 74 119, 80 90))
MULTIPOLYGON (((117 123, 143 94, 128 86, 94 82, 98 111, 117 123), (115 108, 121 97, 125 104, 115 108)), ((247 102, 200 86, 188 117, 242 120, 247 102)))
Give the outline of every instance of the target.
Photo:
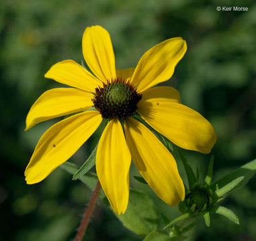
POLYGON ((79 229, 77 231, 77 235, 75 236, 75 241, 82 241, 83 236, 85 235, 86 228, 89 224, 89 221, 91 220, 91 215, 93 214, 94 208, 97 203, 97 198, 99 197, 99 191, 101 189, 101 185, 99 183, 99 180, 97 181, 97 185, 93 191, 93 194, 91 195, 90 202, 87 206, 87 209, 85 210, 85 213, 83 214, 83 219, 81 220, 81 224, 79 226, 79 229))

